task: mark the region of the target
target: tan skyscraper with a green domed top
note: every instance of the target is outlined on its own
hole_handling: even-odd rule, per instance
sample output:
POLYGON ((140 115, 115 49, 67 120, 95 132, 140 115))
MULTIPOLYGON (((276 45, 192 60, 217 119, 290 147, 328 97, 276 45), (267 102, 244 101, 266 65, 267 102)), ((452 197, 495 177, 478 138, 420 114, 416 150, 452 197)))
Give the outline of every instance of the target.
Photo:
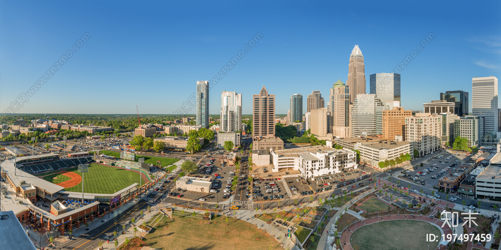
POLYGON ((332 135, 350 137, 350 88, 338 79, 331 88, 329 104, 332 135))

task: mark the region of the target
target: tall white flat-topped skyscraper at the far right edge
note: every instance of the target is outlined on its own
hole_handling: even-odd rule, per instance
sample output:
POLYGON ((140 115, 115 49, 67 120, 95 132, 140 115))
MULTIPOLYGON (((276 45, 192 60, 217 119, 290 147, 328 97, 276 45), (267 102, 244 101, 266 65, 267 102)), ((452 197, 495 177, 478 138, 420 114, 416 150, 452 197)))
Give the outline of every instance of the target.
MULTIPOLYGON (((497 131, 497 78, 495 76, 471 78, 471 104, 473 115, 485 117, 484 133, 497 131)), ((479 135, 480 138, 483 134, 479 135)))

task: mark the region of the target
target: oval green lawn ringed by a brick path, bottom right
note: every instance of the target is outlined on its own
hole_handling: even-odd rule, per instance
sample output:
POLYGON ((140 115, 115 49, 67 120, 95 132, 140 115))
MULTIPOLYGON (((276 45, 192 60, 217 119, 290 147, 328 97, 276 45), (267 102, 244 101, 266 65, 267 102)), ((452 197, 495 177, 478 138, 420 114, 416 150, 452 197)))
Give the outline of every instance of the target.
POLYGON ((426 241, 426 233, 440 230, 425 221, 389 220, 364 225, 351 234, 353 249, 435 249, 438 242, 426 241))

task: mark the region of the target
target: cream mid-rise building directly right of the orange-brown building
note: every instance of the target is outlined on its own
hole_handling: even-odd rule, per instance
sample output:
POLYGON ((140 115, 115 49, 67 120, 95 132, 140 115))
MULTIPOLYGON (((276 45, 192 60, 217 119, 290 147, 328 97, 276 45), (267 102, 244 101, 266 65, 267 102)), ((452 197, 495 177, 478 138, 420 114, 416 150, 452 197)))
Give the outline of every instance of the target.
POLYGON ((431 113, 416 113, 405 117, 405 140, 414 143, 419 155, 426 155, 440 149, 442 116, 431 113))

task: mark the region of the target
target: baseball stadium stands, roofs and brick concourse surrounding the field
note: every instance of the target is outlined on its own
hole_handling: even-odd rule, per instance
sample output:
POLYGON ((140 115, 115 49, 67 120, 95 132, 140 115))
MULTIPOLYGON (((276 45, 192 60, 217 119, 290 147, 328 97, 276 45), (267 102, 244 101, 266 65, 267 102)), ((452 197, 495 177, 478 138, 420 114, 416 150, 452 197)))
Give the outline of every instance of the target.
MULTIPOLYGON (((89 156, 61 159, 55 153, 23 156, 1 162, 0 174, 4 179, 1 186, 1 209, 12 210, 31 237, 36 241, 44 241, 51 235, 64 234, 69 229, 81 227, 139 194, 138 183, 133 182, 114 193, 85 193, 82 197, 82 192, 66 191, 60 183, 34 175, 44 175, 51 171, 64 175, 69 173, 65 169, 90 162, 94 160, 89 156)), ((144 191, 155 182, 149 180, 141 183, 141 190, 144 191)))

